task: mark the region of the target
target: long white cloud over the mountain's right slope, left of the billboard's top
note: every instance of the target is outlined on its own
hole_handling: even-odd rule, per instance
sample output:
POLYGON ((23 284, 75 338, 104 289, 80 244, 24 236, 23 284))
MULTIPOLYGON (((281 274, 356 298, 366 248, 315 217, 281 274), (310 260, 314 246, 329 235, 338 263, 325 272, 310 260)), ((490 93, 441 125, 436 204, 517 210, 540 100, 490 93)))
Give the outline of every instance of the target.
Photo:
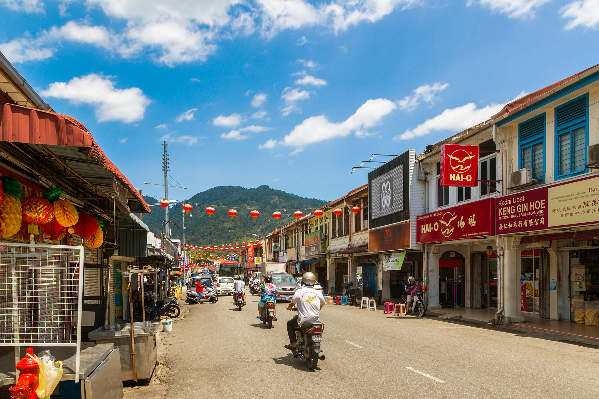
POLYGON ((385 115, 397 108, 391 100, 385 98, 370 99, 358 108, 349 118, 339 123, 332 123, 325 115, 310 117, 295 126, 294 130, 277 142, 270 139, 258 148, 272 150, 277 144, 294 147, 296 154, 306 145, 326 141, 338 137, 346 137, 351 133, 356 136, 367 134, 366 129, 376 126, 385 115))

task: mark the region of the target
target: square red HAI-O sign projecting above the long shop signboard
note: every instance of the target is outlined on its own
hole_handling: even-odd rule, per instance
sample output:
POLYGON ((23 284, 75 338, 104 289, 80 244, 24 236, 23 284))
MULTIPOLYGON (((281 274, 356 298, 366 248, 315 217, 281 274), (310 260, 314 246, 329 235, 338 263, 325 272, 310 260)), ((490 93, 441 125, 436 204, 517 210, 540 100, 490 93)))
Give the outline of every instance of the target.
POLYGON ((443 144, 441 146, 441 185, 476 187, 479 146, 443 144))

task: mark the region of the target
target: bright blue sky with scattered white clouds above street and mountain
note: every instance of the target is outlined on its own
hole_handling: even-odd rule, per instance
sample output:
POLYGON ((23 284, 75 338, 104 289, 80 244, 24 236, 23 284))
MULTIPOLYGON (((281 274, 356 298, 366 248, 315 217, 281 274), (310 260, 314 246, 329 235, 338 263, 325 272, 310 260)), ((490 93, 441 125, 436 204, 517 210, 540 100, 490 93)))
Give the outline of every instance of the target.
POLYGON ((336 199, 595 65, 599 2, 0 0, 0 51, 144 194, 162 140, 187 199, 267 184, 336 199), (174 4, 176 3, 176 4, 174 4), (375 160, 385 160, 379 157, 375 160))

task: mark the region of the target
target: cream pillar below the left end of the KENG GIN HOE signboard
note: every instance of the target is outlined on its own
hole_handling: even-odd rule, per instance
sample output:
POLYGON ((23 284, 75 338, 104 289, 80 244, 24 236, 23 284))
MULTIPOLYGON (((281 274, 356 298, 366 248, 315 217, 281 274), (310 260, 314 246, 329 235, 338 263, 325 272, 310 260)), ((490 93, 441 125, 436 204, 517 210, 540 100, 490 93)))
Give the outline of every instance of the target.
POLYGON ((512 323, 523 322, 524 316, 521 313, 521 250, 520 237, 503 238, 503 276, 504 276, 504 310, 503 313, 509 317, 512 323))

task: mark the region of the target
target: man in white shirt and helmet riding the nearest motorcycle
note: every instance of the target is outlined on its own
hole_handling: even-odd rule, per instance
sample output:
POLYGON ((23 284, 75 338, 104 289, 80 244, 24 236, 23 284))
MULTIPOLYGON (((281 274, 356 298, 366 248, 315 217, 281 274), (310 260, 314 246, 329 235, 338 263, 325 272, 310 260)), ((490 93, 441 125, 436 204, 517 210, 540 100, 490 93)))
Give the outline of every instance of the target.
POLYGON ((295 291, 295 294, 287 309, 291 310, 294 304, 298 307, 298 314, 287 322, 287 334, 289 335, 289 345, 287 349, 295 349, 297 346, 297 337, 295 330, 300 328, 306 321, 319 321, 320 310, 325 306, 325 297, 318 290, 314 290, 316 276, 312 272, 305 272, 301 278, 303 286, 295 291))

